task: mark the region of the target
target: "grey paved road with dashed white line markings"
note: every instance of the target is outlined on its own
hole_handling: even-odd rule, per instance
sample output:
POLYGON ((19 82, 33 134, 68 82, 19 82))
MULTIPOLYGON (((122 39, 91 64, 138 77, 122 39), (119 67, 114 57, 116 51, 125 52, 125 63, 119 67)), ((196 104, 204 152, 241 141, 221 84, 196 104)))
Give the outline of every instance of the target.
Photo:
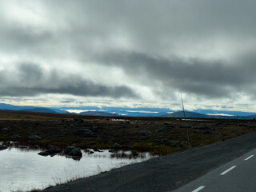
POLYGON ((256 149, 174 192, 255 192, 256 149))

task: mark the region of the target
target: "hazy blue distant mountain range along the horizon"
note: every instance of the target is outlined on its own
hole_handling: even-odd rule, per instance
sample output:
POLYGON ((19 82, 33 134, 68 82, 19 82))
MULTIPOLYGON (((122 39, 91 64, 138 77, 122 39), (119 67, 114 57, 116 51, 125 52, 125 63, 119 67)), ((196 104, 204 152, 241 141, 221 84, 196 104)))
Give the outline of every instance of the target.
MULTIPOLYGON (((0 110, 22 110, 38 113, 60 113, 70 114, 69 111, 83 111, 81 114, 88 116, 104 116, 104 117, 162 117, 162 118, 183 118, 183 111, 171 111, 167 108, 122 108, 122 107, 38 107, 38 106, 13 106, 0 103, 0 110)), ((186 118, 230 118, 230 119, 253 119, 256 118, 255 113, 242 111, 225 111, 225 110, 194 110, 186 111, 186 118)))

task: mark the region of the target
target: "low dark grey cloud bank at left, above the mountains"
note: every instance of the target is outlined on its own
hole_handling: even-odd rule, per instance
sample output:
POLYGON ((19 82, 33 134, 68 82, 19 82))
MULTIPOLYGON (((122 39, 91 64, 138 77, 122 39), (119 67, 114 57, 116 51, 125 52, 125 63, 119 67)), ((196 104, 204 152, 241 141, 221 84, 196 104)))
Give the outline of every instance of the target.
POLYGON ((73 94, 78 96, 101 96, 110 98, 136 98, 127 86, 108 86, 85 80, 70 74, 46 73, 34 64, 21 64, 17 71, 0 71, 0 95, 35 96, 38 94, 73 94), (14 77, 14 81, 10 79, 14 77))

